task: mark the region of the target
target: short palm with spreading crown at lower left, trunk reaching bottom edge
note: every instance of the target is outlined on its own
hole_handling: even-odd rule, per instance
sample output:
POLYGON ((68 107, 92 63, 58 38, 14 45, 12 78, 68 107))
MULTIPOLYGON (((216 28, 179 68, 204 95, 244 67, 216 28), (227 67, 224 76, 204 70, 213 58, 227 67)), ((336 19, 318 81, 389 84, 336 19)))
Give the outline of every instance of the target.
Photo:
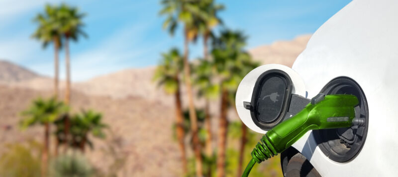
POLYGON ((48 164, 48 149, 50 137, 50 123, 54 122, 59 115, 68 111, 68 107, 62 102, 58 102, 55 97, 48 100, 38 98, 33 101, 32 105, 21 113, 24 117, 20 121, 20 126, 26 128, 34 124, 44 125, 44 149, 42 153, 41 175, 46 176, 48 164))

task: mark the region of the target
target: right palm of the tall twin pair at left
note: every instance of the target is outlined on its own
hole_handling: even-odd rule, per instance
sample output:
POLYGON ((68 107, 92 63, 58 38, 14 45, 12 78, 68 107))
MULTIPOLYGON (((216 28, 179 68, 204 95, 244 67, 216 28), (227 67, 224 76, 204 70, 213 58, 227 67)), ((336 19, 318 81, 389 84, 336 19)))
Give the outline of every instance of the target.
POLYGON ((56 11, 57 20, 60 23, 60 33, 65 38, 65 66, 66 66, 66 92, 65 103, 70 102, 71 79, 70 79, 70 52, 69 40, 78 41, 81 36, 87 38, 87 34, 83 31, 83 17, 85 13, 80 13, 77 7, 70 7, 67 4, 61 4, 56 11))

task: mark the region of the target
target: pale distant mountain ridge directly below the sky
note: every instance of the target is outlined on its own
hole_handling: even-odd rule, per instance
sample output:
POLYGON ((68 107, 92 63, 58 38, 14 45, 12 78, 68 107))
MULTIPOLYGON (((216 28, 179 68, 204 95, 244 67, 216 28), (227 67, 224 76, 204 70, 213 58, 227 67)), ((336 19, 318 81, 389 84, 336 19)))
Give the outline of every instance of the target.
MULTIPOLYGON (((305 49, 309 38, 310 35, 302 35, 291 41, 277 41, 271 45, 250 49, 249 53, 261 64, 278 63, 291 67, 297 56, 305 49)), ((73 83, 72 88, 88 95, 112 98, 140 97, 165 104, 171 103, 172 98, 153 82, 154 69, 154 66, 125 69, 86 82, 73 83)), ((51 78, 39 76, 7 61, 0 61, 0 83, 35 90, 53 89, 51 78)), ((64 86, 65 83, 60 81, 60 88, 63 89, 64 86)))

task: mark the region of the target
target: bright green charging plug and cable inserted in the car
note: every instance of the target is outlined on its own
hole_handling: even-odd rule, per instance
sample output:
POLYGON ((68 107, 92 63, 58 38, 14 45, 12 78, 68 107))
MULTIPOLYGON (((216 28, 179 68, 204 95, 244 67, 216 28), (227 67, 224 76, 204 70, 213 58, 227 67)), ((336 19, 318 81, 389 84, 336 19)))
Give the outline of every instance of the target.
POLYGON ((256 163, 288 149, 309 130, 352 126, 357 122, 354 120, 357 105, 358 99, 353 95, 318 94, 297 115, 278 124, 261 138, 242 177, 247 177, 256 163))

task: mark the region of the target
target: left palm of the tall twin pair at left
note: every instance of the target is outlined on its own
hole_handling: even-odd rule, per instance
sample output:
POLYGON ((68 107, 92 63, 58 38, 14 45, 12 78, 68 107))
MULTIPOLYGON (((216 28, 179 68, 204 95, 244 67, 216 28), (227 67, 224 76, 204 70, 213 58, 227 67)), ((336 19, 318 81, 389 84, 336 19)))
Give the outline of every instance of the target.
POLYGON ((32 37, 40 40, 43 48, 46 48, 50 43, 54 44, 54 95, 58 97, 58 52, 62 43, 60 24, 56 18, 56 13, 56 7, 47 4, 44 13, 37 14, 33 19, 35 23, 38 23, 38 27, 32 37))

